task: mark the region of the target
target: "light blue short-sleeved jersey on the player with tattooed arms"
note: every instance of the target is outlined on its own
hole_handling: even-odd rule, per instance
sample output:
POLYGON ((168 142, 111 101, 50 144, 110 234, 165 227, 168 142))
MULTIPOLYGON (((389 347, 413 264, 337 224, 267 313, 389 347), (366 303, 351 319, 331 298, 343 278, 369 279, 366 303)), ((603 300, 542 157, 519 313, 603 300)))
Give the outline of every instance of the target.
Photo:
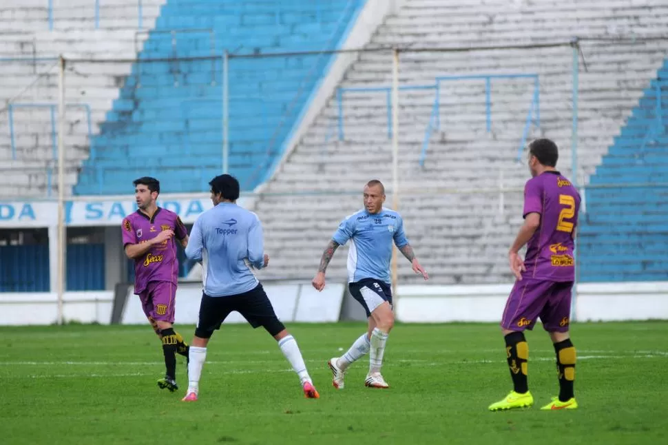
POLYGON ((348 282, 373 278, 389 283, 392 242, 399 248, 408 244, 401 215, 386 208, 378 214, 362 209, 348 216, 332 239, 340 245, 351 240, 348 282))

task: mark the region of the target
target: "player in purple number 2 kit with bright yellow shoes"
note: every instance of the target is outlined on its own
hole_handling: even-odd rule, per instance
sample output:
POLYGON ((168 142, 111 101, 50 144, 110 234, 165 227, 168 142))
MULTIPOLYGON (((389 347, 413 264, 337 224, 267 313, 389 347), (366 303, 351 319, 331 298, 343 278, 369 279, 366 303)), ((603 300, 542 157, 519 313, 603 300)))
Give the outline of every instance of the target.
POLYGON ((575 280, 573 257, 580 195, 570 180, 556 171, 559 149, 550 139, 529 144, 529 169, 533 176, 524 188, 524 224, 508 260, 516 282, 505 304, 501 329, 514 389, 491 411, 522 408, 534 403, 527 373, 529 348, 525 329, 540 318, 550 334, 559 371, 559 397, 543 410, 574 409, 575 347, 570 340, 571 292, 575 280), (519 250, 527 245, 525 259, 519 250))

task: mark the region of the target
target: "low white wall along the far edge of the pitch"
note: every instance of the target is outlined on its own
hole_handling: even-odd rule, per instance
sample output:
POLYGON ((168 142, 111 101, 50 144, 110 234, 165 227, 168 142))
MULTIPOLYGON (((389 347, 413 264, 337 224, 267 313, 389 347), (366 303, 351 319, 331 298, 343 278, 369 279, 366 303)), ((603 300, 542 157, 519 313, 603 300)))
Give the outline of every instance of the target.
MULTIPOLYGON (((344 283, 330 283, 322 293, 309 282, 265 283, 276 313, 285 322, 336 322, 350 319, 344 283)), ((511 284, 481 286, 407 285, 397 288, 397 319, 406 323, 498 322, 511 284)), ((143 324, 145 318, 132 286, 125 290, 122 324, 143 324)), ((668 282, 586 283, 578 285, 572 319, 575 321, 668 320, 668 282)), ((197 320, 201 284, 181 283, 176 322, 197 320)), ((348 302, 349 303, 349 302, 348 302)), ((349 305, 349 304, 348 304, 349 305)), ((114 291, 67 292, 65 322, 109 324, 114 291)), ((357 308, 359 309, 359 308, 357 308)), ((53 324, 56 293, 0 293, 0 325, 53 324)), ((359 311, 358 311, 359 312, 359 311)), ((359 320, 359 313, 353 319, 359 320)), ((229 323, 244 322, 233 313, 229 323)))

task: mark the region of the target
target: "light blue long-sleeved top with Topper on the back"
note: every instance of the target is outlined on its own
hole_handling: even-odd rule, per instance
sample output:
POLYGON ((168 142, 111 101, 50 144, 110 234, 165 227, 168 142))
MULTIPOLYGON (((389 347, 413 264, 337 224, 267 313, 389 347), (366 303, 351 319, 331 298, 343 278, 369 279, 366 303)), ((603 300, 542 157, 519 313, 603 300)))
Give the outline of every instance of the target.
POLYGON ((251 269, 264 266, 262 224, 252 211, 220 203, 201 214, 190 232, 185 254, 202 261, 204 291, 211 297, 231 296, 258 285, 251 269))

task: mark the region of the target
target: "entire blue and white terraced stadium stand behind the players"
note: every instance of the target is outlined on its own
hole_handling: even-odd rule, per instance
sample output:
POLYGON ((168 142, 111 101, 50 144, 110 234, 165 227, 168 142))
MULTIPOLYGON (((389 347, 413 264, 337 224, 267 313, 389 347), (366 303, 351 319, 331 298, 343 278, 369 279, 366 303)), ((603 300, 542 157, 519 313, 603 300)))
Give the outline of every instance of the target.
MULTIPOLYGON (((668 6, 660 1, 405 0, 366 44, 375 51, 357 54, 339 85, 343 90, 333 94, 296 147, 288 147, 289 156, 275 171, 271 166, 283 156, 285 141, 334 58, 251 56, 340 46, 364 1, 333 0, 326 7, 298 0, 143 1, 142 30, 135 0, 105 1, 97 16, 87 0, 54 1, 52 14, 46 3, 0 7, 0 98, 8 105, 0 118, 0 196, 55 190, 52 104, 58 75, 55 61, 43 57, 60 53, 76 59, 65 75, 67 194, 125 194, 132 179, 144 174, 158 176, 165 192, 202 191, 222 163, 222 63, 211 55, 228 49, 230 172, 244 189, 260 185, 264 193, 254 209, 272 256, 265 277, 311 276, 337 223, 361 207, 366 180, 391 186, 386 92, 359 90, 390 85, 391 54, 379 48, 583 39, 575 174, 569 150, 572 48, 401 54, 401 85, 421 89, 400 93, 400 206, 422 262, 438 271, 432 282, 510 279, 505 251, 521 222, 521 192, 493 189, 521 188, 528 172, 520 148, 527 138, 554 138, 562 148, 560 169, 581 184, 664 177, 658 166, 666 135, 656 124, 655 105, 656 92, 665 92, 665 40, 630 41, 664 36, 668 6), (109 61, 136 56, 137 63, 109 61), (160 58, 165 61, 147 61, 160 58), (508 77, 463 79, 481 75, 508 77), (649 136, 638 137, 643 134, 649 136), (151 171, 147 158, 155 166, 151 171), (348 194, 351 189, 359 194, 348 194)), ((583 215, 581 258, 590 261, 583 262, 581 279, 665 278, 667 268, 658 258, 665 245, 647 242, 668 233, 659 222, 665 218, 658 192, 644 194, 636 217, 624 225, 646 229, 637 235, 611 228, 629 204, 614 196, 585 194, 591 213, 583 215), (640 266, 625 273, 594 266, 620 246, 620 256, 641 251, 640 266)), ((388 207, 392 199, 388 195, 388 207)), ((344 278, 346 250, 337 252, 330 278, 344 278)), ((401 282, 417 282, 406 262, 399 265, 401 282)))

